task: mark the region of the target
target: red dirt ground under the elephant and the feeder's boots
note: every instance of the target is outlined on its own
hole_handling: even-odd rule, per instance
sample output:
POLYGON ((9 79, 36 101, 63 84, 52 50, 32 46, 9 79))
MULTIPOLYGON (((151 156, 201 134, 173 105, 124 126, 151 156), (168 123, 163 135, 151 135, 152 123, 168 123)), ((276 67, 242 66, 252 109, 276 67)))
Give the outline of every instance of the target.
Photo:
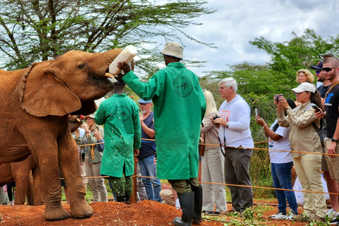
MULTIPOLYGON (((261 201, 262 203, 262 201, 261 201)), ((69 211, 69 205, 63 204, 64 208, 69 211)), ((181 216, 181 212, 172 206, 157 203, 155 201, 141 201, 127 205, 109 201, 108 203, 91 203, 94 213, 92 217, 85 219, 69 218, 61 221, 46 221, 44 219, 44 206, 0 206, 0 213, 4 216, 0 225, 173 225, 172 220, 181 216)), ((230 203, 227 208, 231 209, 230 203)), ((300 208, 300 207, 299 207, 300 208)), ((299 209, 302 213, 302 208, 299 209)), ((306 222, 292 222, 292 220, 273 220, 270 215, 277 213, 278 208, 273 206, 273 210, 264 213, 264 221, 260 225, 285 225, 300 226, 308 225, 306 222)), ((225 217, 222 220, 230 220, 225 217)), ((242 220, 242 218, 239 218, 242 220)), ((203 221, 201 226, 218 225, 218 221, 203 221)))

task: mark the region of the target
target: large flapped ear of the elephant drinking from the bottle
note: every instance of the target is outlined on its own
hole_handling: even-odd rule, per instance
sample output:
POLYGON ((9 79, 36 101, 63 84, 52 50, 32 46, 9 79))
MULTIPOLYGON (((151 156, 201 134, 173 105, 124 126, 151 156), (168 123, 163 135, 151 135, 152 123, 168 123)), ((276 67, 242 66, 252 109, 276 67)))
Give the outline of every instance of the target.
POLYGON ((81 108, 79 98, 48 69, 51 62, 32 64, 19 84, 21 107, 37 117, 63 116, 81 108))

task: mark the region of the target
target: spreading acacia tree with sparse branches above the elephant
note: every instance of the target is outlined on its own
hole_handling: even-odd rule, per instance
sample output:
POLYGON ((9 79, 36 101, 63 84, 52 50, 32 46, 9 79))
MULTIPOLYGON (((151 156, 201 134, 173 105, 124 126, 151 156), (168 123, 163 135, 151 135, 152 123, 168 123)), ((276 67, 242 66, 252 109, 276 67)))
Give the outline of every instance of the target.
MULTIPOLYGON (((181 40, 192 20, 215 10, 206 1, 179 0, 2 0, 0 53, 3 68, 22 69, 34 61, 57 57, 71 49, 100 52, 133 44, 143 59, 139 69, 157 70, 155 37, 181 40)), ((211 44, 200 42, 211 46, 211 44)))

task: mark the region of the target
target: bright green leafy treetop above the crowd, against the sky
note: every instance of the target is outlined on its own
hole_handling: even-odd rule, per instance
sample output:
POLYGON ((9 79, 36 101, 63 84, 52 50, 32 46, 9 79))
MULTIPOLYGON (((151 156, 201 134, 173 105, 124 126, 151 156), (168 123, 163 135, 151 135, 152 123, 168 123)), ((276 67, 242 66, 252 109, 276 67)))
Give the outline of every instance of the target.
POLYGON ((265 37, 256 37, 249 43, 270 55, 268 67, 274 80, 279 81, 280 87, 290 90, 296 86, 296 72, 299 69, 310 69, 311 65, 316 65, 321 54, 327 50, 338 52, 339 35, 326 40, 316 35, 314 30, 307 29, 302 36, 292 32, 289 41, 271 42, 265 37))

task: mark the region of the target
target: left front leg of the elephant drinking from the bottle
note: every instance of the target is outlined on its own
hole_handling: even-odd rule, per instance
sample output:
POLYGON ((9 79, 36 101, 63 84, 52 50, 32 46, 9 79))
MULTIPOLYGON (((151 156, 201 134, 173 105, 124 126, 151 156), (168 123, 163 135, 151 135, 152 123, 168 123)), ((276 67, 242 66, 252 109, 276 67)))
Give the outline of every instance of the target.
MULTIPOLYGON (((41 140, 44 141, 43 138, 41 140)), ((49 140, 45 139, 45 141, 49 140)), ((40 149, 35 148, 33 150, 35 150, 34 155, 40 167, 41 179, 44 184, 44 201, 46 204, 44 218, 46 220, 69 218, 69 213, 61 206, 57 142, 49 141, 44 143, 44 146, 40 149)))

